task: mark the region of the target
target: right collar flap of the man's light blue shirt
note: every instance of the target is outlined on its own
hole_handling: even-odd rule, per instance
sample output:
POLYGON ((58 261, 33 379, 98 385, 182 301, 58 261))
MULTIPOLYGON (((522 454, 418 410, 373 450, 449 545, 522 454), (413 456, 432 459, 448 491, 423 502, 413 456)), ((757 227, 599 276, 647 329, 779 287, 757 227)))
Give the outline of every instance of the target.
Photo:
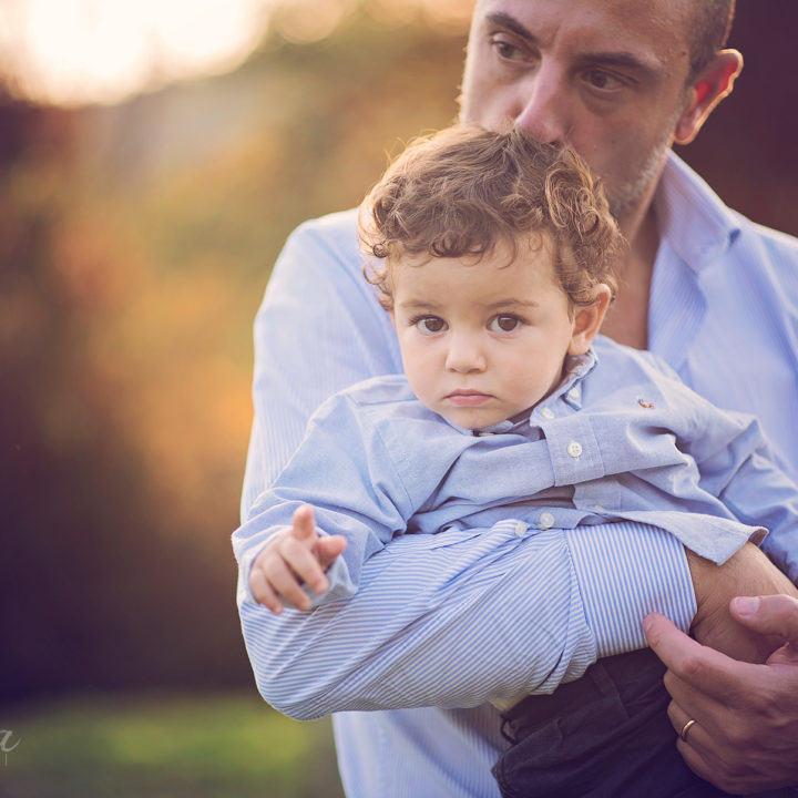
POLYGON ((659 236, 698 272, 717 260, 740 233, 733 211, 674 152, 654 196, 659 236))

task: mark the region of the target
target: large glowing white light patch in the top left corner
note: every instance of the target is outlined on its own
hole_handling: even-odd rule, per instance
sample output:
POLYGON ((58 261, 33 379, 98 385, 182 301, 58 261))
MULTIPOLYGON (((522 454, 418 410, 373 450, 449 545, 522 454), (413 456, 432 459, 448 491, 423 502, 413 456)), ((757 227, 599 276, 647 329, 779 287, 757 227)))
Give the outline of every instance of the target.
MULTIPOLYGON (((113 102, 238 63, 265 27, 263 0, 6 0, 6 69, 33 99, 113 102)), ((6 41, 2 41, 2 40, 6 41)))

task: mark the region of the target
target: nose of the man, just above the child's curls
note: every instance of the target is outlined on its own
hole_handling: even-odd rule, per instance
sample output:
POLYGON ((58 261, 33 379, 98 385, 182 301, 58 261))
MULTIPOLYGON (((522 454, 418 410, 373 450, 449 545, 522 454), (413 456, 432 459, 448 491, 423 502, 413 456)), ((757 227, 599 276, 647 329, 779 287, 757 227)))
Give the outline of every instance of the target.
POLYGON ((571 102, 567 76, 555 63, 542 62, 519 85, 513 122, 538 141, 564 146, 571 127, 571 102))

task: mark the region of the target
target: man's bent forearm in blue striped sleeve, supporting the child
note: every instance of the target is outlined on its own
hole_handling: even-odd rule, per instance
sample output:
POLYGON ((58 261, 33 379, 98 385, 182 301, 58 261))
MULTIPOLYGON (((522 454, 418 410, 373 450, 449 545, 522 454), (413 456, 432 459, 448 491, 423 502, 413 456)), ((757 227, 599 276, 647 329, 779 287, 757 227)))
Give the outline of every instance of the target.
POLYGON ((239 579, 242 626, 262 695, 287 715, 475 706, 551 693, 597 656, 642 647, 649 610, 686 628, 692 591, 674 595, 677 580, 661 567, 682 551, 633 524, 407 535, 365 563, 351 598, 310 613, 273 615, 239 579), (632 601, 618 606, 624 593, 632 601))

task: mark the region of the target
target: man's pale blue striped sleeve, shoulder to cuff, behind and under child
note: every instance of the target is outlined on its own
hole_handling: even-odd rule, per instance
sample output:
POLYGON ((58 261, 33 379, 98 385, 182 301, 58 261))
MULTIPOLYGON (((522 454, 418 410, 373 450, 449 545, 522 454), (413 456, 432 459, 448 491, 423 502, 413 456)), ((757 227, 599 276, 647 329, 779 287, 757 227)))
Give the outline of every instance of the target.
MULTIPOLYGON (((385 311, 352 266, 356 246, 354 221, 317 222, 289 238, 275 266, 255 325, 245 519, 328 396, 400 369, 385 311)), ((484 534, 397 539, 364 564, 351 598, 310 613, 272 615, 252 603, 239 575, 262 694, 299 718, 473 706, 551 692, 596 656, 644 645, 644 608, 688 627, 695 602, 684 550, 661 530, 594 526, 610 532, 584 553, 579 530, 519 536, 518 529, 508 521, 484 534), (620 542, 627 536, 634 545, 620 542)))

